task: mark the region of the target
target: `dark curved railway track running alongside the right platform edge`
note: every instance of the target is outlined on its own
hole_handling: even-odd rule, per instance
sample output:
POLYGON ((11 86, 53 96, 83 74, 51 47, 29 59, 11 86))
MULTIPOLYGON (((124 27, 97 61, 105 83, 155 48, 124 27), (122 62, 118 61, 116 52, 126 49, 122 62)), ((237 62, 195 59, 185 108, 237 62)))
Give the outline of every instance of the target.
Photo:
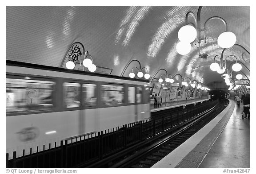
POLYGON ((200 119, 191 124, 171 132, 171 135, 161 137, 152 141, 147 147, 136 150, 132 155, 125 155, 114 160, 111 168, 150 168, 156 162, 163 159, 166 155, 179 147, 197 131, 203 128, 209 121, 217 116, 227 105, 218 104, 216 107, 205 112, 200 119))

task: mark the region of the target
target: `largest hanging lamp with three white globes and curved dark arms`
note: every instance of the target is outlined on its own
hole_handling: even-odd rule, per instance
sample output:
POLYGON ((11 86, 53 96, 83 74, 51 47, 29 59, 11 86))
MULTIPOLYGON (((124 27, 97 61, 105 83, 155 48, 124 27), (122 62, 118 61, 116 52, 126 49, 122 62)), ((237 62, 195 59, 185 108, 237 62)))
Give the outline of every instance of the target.
POLYGON ((178 50, 181 47, 180 45, 185 45, 184 43, 187 43, 187 45, 188 45, 188 43, 191 43, 191 42, 193 42, 193 40, 195 40, 195 44, 196 43, 199 44, 199 47, 198 47, 199 48, 199 58, 204 57, 204 55, 200 54, 200 43, 202 40, 204 40, 204 43, 206 43, 206 24, 212 19, 220 19, 225 25, 225 32, 221 33, 217 39, 218 44, 223 48, 229 48, 236 43, 236 35, 234 33, 232 33, 231 31, 228 31, 227 22, 219 16, 213 16, 213 17, 208 18, 204 23, 204 27, 201 28, 200 13, 201 13, 202 7, 203 6, 199 6, 199 8, 198 8, 197 18, 193 12, 188 12, 186 14, 185 26, 181 27, 180 30, 178 31, 178 38, 180 39, 181 42, 177 44, 176 50, 179 54, 182 54, 182 55, 188 54, 187 53, 188 48, 186 51, 178 50), (193 19, 195 20, 195 23, 188 23, 188 15, 192 15, 193 19), (195 31, 196 31, 196 37, 195 37, 195 31), (201 36, 201 31, 204 32, 203 37, 201 36))

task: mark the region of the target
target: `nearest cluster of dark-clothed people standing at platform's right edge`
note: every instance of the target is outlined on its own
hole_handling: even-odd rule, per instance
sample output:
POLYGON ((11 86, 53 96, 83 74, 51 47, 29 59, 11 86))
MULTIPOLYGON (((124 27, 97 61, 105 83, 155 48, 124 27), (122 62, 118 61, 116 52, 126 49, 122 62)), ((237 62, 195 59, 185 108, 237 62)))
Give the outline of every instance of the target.
POLYGON ((235 100, 237 101, 237 106, 240 107, 240 101, 242 102, 242 104, 244 105, 244 111, 241 112, 242 115, 242 119, 244 118, 250 118, 250 94, 246 93, 246 94, 242 94, 241 98, 238 95, 235 95, 235 100))

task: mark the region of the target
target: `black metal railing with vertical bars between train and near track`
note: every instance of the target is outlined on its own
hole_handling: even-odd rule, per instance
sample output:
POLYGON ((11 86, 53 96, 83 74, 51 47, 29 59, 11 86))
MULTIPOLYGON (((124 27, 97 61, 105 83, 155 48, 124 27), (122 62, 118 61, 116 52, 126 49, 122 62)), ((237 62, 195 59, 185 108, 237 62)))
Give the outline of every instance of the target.
POLYGON ((69 139, 60 142, 60 146, 51 147, 43 151, 16 157, 16 151, 13 152, 13 158, 8 159, 6 154, 6 168, 75 168, 77 166, 92 164, 93 162, 104 159, 118 151, 148 139, 160 132, 172 128, 180 123, 186 122, 199 115, 200 113, 212 108, 219 101, 206 101, 199 104, 192 104, 189 108, 163 110, 154 113, 154 116, 148 120, 139 121, 132 124, 126 124, 110 131, 100 131, 86 138, 85 135, 75 137, 74 142, 69 139))

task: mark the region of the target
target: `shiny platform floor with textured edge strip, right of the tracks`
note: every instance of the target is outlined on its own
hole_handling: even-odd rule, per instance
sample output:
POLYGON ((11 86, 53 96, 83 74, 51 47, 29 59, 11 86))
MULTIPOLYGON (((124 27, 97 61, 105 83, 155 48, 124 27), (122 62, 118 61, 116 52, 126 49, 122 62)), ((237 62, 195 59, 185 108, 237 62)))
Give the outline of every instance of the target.
POLYGON ((152 168, 250 168, 250 120, 230 100, 209 124, 152 168))

